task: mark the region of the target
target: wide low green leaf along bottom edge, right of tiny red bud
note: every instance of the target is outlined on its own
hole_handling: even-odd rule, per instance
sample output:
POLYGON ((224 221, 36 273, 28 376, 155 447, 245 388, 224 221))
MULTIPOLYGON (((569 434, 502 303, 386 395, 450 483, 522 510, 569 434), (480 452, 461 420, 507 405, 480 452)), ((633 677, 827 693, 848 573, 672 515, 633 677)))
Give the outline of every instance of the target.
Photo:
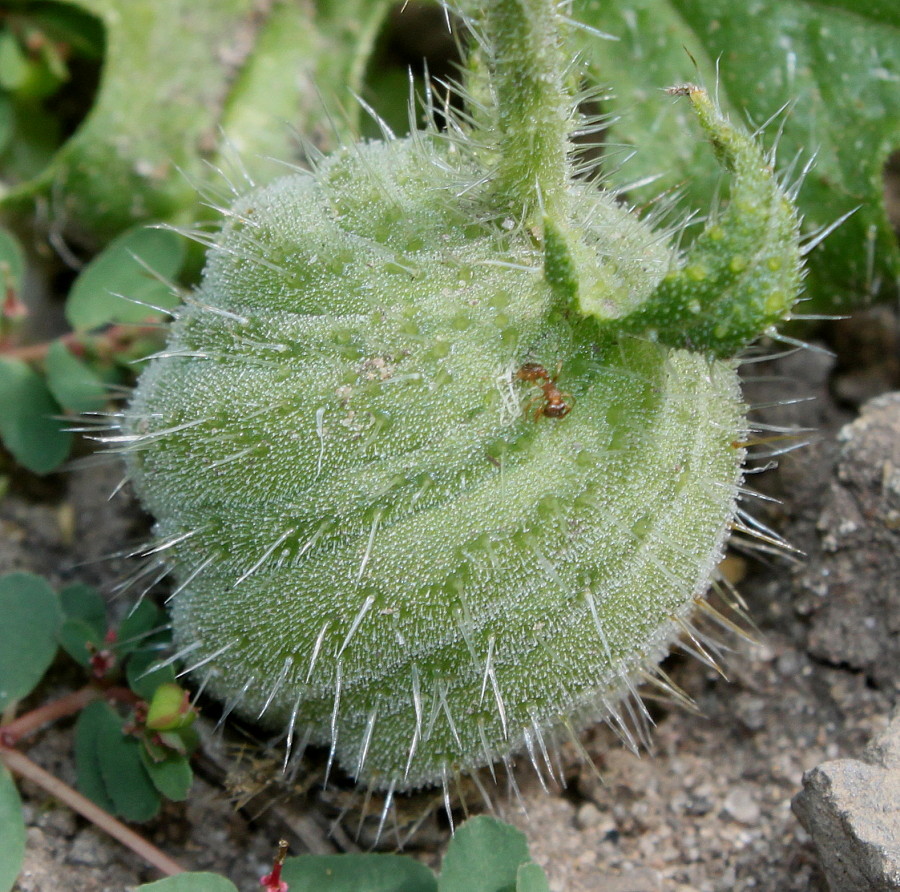
POLYGON ((403 855, 298 855, 281 878, 292 890, 316 892, 436 892, 434 874, 403 855))

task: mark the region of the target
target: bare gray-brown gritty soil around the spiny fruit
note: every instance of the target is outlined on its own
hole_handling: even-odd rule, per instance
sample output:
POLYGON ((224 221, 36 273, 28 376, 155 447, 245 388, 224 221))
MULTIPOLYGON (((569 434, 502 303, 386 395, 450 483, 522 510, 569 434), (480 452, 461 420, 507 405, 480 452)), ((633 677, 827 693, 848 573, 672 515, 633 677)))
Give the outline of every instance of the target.
MULTIPOLYGON (((741 577, 756 642, 726 640, 727 679, 695 659, 667 661, 696 710, 650 701, 651 752, 637 756, 600 727, 584 739, 596 773, 564 749, 565 789, 541 789, 523 759, 521 797, 505 789, 495 797, 528 835, 553 890, 826 890, 791 798, 805 770, 858 755, 887 725, 900 691, 900 624, 890 629, 891 610, 896 618, 900 609, 900 532, 879 539, 873 531, 866 480, 883 469, 867 465, 877 456, 853 452, 861 442, 853 432, 872 419, 893 418, 893 432, 880 435, 888 452, 896 448, 900 398, 880 415, 870 404, 863 427, 845 427, 872 397, 900 389, 898 313, 880 308, 832 323, 815 333, 815 344, 836 356, 807 350, 746 367, 748 402, 767 407, 753 417, 813 429, 803 435, 809 445, 782 456, 778 470, 749 478, 780 501, 754 500, 748 510, 805 553, 732 549, 729 573, 741 577), (801 401, 771 405, 784 400, 801 401)), ((113 466, 14 481, 0 501, 0 572, 31 570, 55 584, 78 580, 112 592, 126 562, 104 556, 147 529, 126 495, 108 499, 117 482, 113 466)), ((112 601, 114 611, 125 606, 112 601)), ((35 699, 64 690, 68 671, 60 660, 35 699)), ((207 726, 215 714, 204 704, 207 726)), ((142 832, 186 867, 222 872, 247 892, 258 888, 281 837, 292 854, 364 849, 379 804, 349 787, 318 790, 315 753, 292 787, 264 789, 272 761, 248 749, 250 733, 208 733, 189 801, 167 804, 142 832)), ((74 782, 71 723, 45 730, 27 751, 74 782)), ((122 892, 157 878, 39 790, 25 783, 22 792, 28 847, 19 892, 122 892)), ((460 805, 455 819, 463 816, 460 805)), ((417 818, 421 827, 405 850, 437 865, 449 833, 440 796, 399 801, 382 845, 395 845, 417 818)))

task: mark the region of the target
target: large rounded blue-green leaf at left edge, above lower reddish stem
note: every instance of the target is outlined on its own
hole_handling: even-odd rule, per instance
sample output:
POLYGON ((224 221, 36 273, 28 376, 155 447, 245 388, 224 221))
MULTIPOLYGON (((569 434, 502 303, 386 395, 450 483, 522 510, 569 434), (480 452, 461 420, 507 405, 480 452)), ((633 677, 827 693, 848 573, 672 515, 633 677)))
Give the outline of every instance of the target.
POLYGON ((56 592, 32 573, 0 577, 0 712, 31 693, 56 655, 62 612, 56 592))

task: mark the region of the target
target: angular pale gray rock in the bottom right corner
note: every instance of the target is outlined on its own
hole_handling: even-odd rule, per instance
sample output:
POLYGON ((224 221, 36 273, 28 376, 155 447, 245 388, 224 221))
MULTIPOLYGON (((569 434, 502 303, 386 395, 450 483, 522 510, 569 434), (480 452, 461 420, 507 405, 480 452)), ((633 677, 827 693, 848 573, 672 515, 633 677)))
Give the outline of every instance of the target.
POLYGON ((806 772, 792 803, 831 892, 900 890, 900 716, 864 758, 806 772))

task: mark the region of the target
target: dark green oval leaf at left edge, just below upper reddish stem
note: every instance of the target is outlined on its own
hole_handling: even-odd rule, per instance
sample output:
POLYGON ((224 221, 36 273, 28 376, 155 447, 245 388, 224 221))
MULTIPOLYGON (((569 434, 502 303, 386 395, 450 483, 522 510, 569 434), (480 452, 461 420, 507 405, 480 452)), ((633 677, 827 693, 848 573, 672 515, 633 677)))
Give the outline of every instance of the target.
POLYGON ((41 377, 24 362, 0 359, 0 438, 16 461, 47 474, 69 454, 72 435, 54 416, 60 408, 41 377))

